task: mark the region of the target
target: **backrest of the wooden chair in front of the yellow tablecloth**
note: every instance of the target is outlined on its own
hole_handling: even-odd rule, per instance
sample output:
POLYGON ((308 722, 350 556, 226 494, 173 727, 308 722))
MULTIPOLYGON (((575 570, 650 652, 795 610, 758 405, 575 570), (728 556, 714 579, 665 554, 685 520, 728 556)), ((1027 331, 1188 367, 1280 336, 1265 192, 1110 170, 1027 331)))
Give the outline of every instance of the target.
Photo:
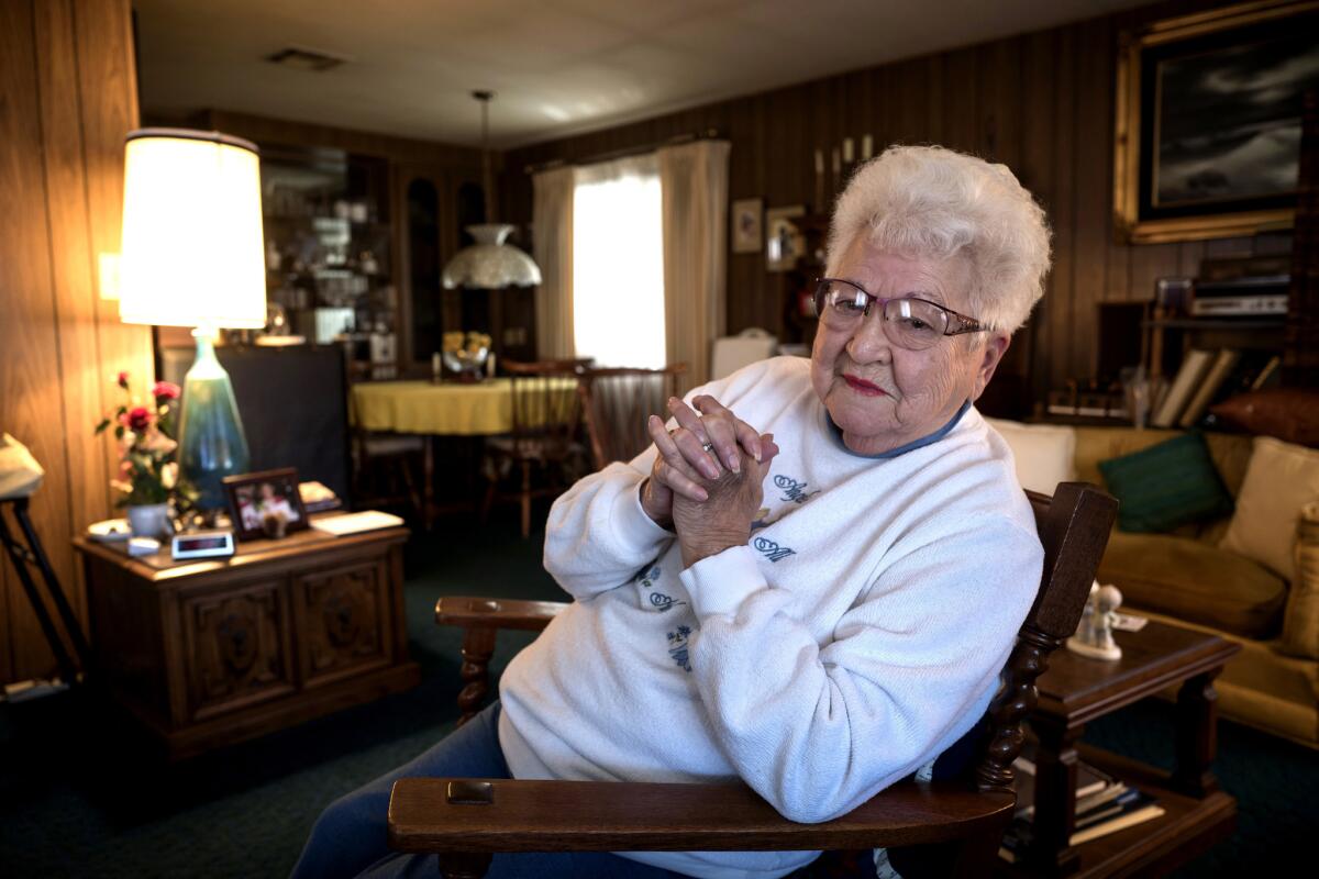
POLYGON ((539 455, 567 453, 582 423, 579 361, 504 361, 513 381, 513 438, 539 455))

